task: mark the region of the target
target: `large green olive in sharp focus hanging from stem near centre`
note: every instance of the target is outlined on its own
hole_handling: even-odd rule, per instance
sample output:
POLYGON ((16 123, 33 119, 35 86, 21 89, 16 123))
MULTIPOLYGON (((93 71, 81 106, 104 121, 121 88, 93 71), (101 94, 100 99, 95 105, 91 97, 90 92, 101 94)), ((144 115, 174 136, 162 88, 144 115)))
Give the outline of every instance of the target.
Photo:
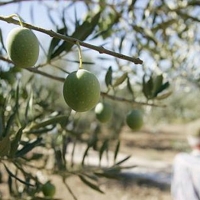
POLYGON ((74 71, 65 79, 63 96, 68 106, 73 110, 77 112, 88 111, 99 101, 99 81, 93 73, 85 69, 74 71))

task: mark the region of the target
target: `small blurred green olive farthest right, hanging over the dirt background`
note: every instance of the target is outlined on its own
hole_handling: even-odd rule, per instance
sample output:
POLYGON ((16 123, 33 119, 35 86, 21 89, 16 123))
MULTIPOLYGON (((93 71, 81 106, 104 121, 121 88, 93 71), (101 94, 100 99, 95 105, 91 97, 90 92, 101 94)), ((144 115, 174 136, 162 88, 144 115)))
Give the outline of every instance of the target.
POLYGON ((132 130, 139 130, 143 126, 143 114, 140 110, 131 110, 126 116, 126 123, 132 130))

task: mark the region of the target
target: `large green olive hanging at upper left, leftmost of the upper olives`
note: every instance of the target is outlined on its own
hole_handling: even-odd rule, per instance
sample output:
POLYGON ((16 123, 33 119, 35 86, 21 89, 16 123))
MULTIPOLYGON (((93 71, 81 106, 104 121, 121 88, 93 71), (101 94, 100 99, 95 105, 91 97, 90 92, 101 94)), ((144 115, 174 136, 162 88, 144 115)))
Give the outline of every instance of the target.
POLYGON ((39 42, 28 28, 17 27, 10 31, 6 40, 10 59, 17 67, 32 67, 39 56, 39 42))

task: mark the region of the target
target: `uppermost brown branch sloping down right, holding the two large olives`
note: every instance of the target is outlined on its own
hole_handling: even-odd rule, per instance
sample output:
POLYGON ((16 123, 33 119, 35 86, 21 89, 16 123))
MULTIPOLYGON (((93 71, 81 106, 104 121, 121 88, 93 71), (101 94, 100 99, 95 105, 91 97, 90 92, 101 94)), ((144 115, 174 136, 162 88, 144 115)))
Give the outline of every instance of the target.
MULTIPOLYGON (((2 16, 2 15, 0 15, 0 20, 1 21, 5 21, 7 23, 12 23, 12 24, 19 25, 19 21, 13 19, 12 15, 11 16, 2 16)), ((130 61, 130 62, 133 62, 135 64, 142 64, 143 63, 143 61, 141 59, 139 59, 139 58, 126 56, 124 54, 117 53, 117 52, 105 49, 102 46, 95 46, 95 45, 80 41, 80 40, 78 40, 76 38, 56 33, 56 32, 54 32, 52 30, 47 30, 47 29, 44 29, 44 28, 41 28, 41 27, 33 26, 33 25, 25 23, 25 22, 23 22, 23 26, 26 27, 26 28, 29 28, 29 29, 33 29, 35 31, 39 31, 39 32, 45 33, 45 34, 47 34, 47 35, 49 35, 51 37, 62 39, 64 41, 70 42, 72 44, 79 43, 80 46, 86 47, 88 49, 92 49, 94 51, 99 52, 100 54, 107 54, 107 55, 110 55, 110 56, 113 56, 113 57, 116 57, 116 58, 119 58, 119 59, 123 59, 123 60, 127 60, 127 61, 130 61)))

